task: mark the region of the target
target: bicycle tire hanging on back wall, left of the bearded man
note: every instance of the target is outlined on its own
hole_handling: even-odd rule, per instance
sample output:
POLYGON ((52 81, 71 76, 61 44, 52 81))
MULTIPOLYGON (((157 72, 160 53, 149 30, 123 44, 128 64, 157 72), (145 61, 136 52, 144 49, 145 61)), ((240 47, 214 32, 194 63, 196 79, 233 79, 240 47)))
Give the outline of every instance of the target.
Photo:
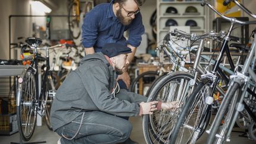
POLYGON ((77 15, 72 15, 74 5, 76 5, 76 3, 72 2, 72 4, 70 4, 68 8, 68 28, 69 28, 69 35, 71 36, 71 38, 78 39, 79 36, 81 35, 81 30, 80 30, 81 28, 79 27, 79 21, 73 20, 73 17, 77 16, 77 15), (73 34, 72 27, 74 27, 74 25, 78 25, 79 32, 77 36, 73 34))

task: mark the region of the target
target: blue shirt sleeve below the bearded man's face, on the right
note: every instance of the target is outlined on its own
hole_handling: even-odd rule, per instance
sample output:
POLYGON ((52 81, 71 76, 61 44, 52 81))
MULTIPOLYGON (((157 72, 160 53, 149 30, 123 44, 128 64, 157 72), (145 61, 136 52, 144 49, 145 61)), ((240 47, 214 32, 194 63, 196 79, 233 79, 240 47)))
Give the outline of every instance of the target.
POLYGON ((129 37, 127 40, 127 44, 130 44, 133 47, 138 47, 140 45, 140 41, 142 41, 142 34, 145 33, 145 28, 142 23, 142 15, 140 14, 140 12, 136 15, 136 18, 130 25, 128 33, 129 37))

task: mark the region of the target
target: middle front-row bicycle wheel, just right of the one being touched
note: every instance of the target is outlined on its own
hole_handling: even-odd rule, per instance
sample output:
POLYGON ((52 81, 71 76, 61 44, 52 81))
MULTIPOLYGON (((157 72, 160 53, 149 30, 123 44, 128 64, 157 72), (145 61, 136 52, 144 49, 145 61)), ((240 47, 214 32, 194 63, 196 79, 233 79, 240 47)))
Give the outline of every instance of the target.
POLYGON ((209 95, 209 83, 199 82, 181 108, 170 143, 196 143, 209 124, 212 114, 210 106, 204 101, 209 95))

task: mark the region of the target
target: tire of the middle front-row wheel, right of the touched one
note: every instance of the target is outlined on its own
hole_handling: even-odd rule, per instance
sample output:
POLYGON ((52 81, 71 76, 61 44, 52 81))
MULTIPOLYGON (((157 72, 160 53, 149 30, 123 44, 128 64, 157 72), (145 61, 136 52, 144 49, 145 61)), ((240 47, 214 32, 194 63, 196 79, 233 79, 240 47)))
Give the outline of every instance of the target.
MULTIPOLYGON (((208 81, 208 80, 207 80, 208 81)), ((191 121, 190 121, 190 117, 187 118, 186 116, 193 114, 194 110, 204 110, 204 105, 203 105, 203 101, 204 101, 204 96, 201 97, 199 94, 202 94, 204 92, 204 87, 209 87, 209 83, 208 82, 199 82, 199 84, 196 85, 196 87, 194 88, 194 91, 192 92, 192 94, 188 97, 187 101, 185 101, 184 107, 181 108, 181 113, 180 116, 178 118, 177 124, 174 127, 174 130, 172 132, 171 135, 171 141, 170 143, 176 143, 176 141, 178 140, 178 143, 189 143, 190 140, 197 140, 200 138, 201 135, 203 135, 204 130, 206 129, 207 125, 209 124, 210 121, 210 116, 212 114, 212 111, 207 111, 207 115, 206 115, 206 119, 204 121, 202 121, 203 123, 196 123, 198 121, 201 121, 201 117, 198 117, 195 120, 195 123, 193 126, 191 125, 191 121), (203 90, 203 92, 201 92, 201 90, 203 90), (197 107, 197 104, 199 104, 199 108, 197 107), (203 109, 201 109, 201 106, 203 106, 203 109), (191 113, 192 112, 192 113, 191 113), (188 121, 189 120, 189 121, 188 121), (183 123, 185 126, 183 127, 183 123), (201 130, 199 132, 196 131, 196 133, 194 133, 194 128, 196 126, 203 126, 201 127, 201 130), (183 137, 184 132, 188 133, 193 133, 193 135, 188 136, 188 137, 183 137), (190 132, 190 130, 192 130, 193 132, 190 132), (178 136, 178 134, 181 132, 182 136, 178 136), (195 136, 195 137, 193 137, 195 136), (181 140, 184 140, 184 142, 181 142, 181 140)), ((197 111, 196 111, 197 112, 197 111)), ((200 116, 200 112, 196 113, 197 116, 200 116)), ((192 119, 192 123, 193 123, 193 119, 192 119)), ((187 135, 185 135, 187 136, 187 135)))

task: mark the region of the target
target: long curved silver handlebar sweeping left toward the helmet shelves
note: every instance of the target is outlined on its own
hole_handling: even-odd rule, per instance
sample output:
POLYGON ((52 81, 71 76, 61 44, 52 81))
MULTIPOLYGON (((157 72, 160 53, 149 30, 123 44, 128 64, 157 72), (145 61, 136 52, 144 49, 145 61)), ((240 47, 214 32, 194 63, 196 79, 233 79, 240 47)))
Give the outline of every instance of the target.
POLYGON ((218 14, 220 17, 224 18, 225 20, 231 21, 231 23, 238 23, 238 24, 256 24, 256 21, 241 21, 237 20, 236 18, 229 18, 223 15, 221 12, 219 12, 215 7, 213 7, 208 1, 201 1, 201 6, 207 5, 210 9, 212 9, 216 14, 218 14))

